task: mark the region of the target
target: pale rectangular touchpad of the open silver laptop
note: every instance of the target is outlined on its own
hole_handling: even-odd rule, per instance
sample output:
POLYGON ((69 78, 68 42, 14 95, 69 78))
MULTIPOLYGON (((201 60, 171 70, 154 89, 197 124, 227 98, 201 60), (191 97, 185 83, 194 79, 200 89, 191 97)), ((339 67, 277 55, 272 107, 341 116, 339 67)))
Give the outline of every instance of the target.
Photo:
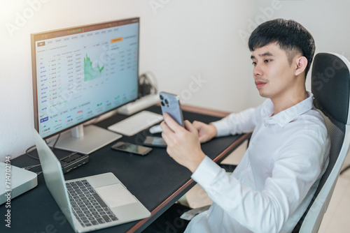
POLYGON ((111 208, 137 202, 120 183, 95 188, 95 190, 111 208))

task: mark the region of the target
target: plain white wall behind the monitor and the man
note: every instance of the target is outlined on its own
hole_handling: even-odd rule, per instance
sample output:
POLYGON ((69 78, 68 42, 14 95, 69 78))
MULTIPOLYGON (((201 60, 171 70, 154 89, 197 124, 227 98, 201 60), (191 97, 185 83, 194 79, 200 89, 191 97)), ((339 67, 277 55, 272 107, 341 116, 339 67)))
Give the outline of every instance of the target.
POLYGON ((246 37, 264 20, 297 20, 314 35, 316 52, 350 54, 350 3, 341 0, 38 1, 44 0, 6 1, 0 8, 0 161, 34 144, 30 33, 139 16, 140 73, 151 70, 160 90, 178 93, 183 102, 227 111, 263 101, 253 84, 246 37), (10 33, 6 26, 24 14, 27 22, 10 33), (203 80, 199 88, 194 79, 203 80))

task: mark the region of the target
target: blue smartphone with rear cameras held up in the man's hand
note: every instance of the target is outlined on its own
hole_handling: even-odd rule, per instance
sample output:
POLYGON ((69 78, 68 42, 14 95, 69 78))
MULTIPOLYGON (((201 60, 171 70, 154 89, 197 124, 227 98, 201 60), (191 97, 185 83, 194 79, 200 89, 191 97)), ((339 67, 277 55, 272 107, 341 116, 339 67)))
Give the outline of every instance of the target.
POLYGON ((180 126, 183 126, 183 116, 179 96, 161 91, 159 93, 162 113, 167 112, 180 126))

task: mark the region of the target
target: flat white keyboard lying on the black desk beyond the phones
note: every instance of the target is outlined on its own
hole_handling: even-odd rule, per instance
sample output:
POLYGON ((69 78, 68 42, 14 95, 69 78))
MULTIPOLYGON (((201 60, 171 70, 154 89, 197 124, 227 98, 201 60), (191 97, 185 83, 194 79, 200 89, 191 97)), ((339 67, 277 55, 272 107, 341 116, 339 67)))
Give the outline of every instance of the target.
POLYGON ((132 136, 162 120, 163 116, 161 114, 142 111, 109 126, 108 129, 123 135, 132 136))

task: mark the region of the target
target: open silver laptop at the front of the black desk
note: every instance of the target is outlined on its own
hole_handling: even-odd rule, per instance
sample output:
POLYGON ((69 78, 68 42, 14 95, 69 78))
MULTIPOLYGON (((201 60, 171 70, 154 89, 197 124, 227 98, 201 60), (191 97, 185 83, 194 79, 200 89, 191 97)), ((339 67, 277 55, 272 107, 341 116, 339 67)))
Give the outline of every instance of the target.
POLYGON ((34 130, 46 186, 75 232, 90 232, 151 216, 111 172, 64 181, 61 164, 34 130))

